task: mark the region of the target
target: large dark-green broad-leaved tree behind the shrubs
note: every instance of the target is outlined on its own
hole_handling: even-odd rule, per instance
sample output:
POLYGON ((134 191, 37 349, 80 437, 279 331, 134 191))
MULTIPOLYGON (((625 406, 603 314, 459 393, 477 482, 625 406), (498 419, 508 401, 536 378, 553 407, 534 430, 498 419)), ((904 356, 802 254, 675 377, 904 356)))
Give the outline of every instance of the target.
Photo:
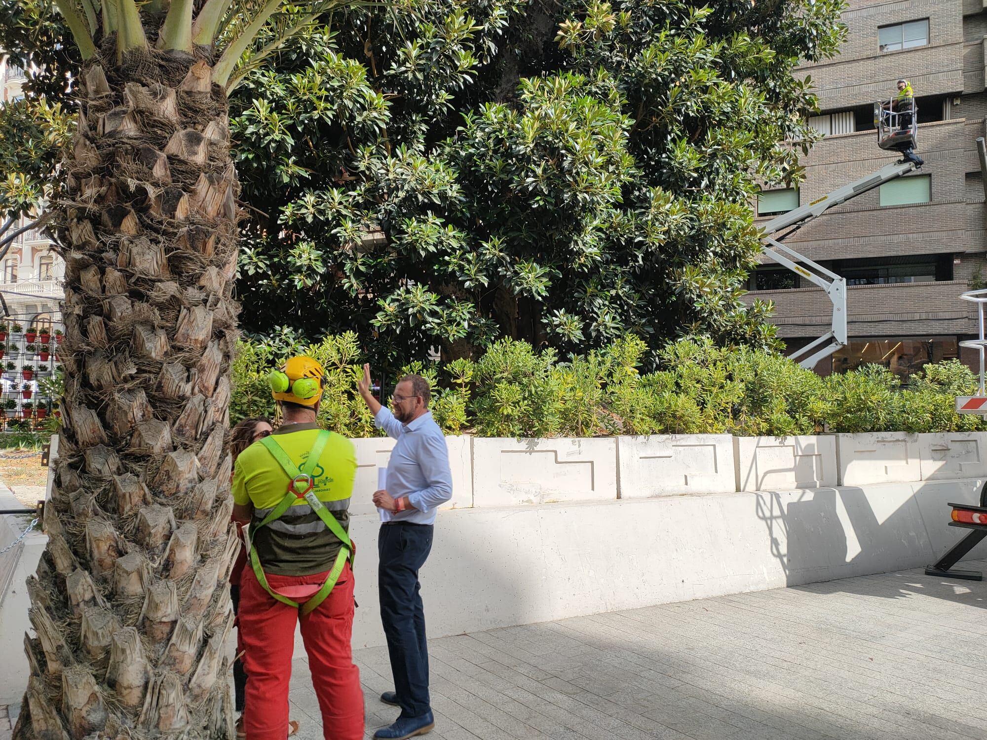
POLYGON ((800 177, 797 65, 842 6, 422 0, 298 39, 233 102, 246 328, 355 329, 396 365, 504 334, 773 344, 740 300, 750 200, 800 177))

